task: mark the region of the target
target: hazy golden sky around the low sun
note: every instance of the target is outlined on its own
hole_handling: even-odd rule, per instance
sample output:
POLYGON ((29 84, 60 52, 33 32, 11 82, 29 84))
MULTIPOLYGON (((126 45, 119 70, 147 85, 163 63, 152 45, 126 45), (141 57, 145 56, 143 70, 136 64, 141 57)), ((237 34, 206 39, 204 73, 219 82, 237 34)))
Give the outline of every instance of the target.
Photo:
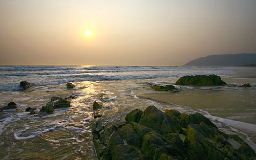
POLYGON ((229 53, 256 53, 256 0, 0 0, 0 65, 177 66, 229 53))

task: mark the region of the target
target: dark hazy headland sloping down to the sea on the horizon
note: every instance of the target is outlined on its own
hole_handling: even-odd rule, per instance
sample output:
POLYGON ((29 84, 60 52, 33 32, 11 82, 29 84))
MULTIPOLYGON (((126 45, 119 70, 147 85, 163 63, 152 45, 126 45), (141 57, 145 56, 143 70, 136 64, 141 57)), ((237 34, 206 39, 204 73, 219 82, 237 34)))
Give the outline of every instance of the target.
POLYGON ((223 54, 209 55, 194 59, 184 66, 255 66, 256 54, 240 53, 240 54, 223 54))

